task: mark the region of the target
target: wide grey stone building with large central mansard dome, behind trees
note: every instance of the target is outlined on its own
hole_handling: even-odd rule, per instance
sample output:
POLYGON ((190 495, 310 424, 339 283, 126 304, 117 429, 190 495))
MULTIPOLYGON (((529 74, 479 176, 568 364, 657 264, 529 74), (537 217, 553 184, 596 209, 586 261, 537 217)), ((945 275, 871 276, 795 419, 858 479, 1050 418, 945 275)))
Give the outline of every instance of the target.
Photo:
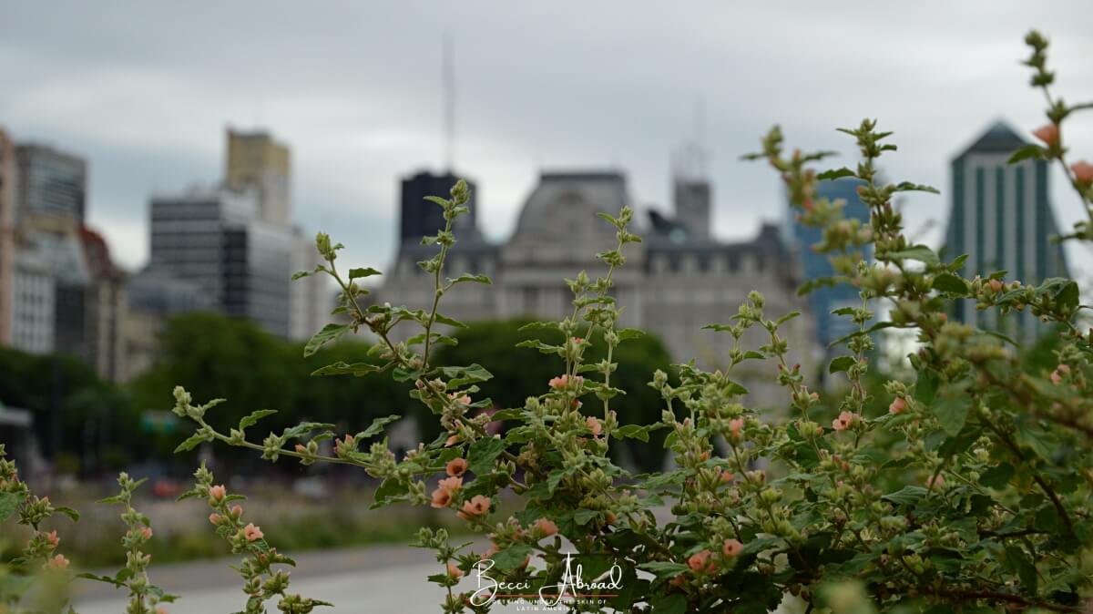
MULTIPOLYGON (((445 194, 446 190, 437 192, 445 194)), ((694 357, 705 367, 725 364, 732 344, 724 333, 701 328, 730 321, 750 291, 765 295, 772 316, 800 307, 795 294, 797 267, 777 227, 763 225, 755 238, 747 241, 718 240, 709 233, 710 193, 704 180, 687 178, 674 191, 672 217, 650 211, 648 224, 637 221, 636 231, 645 240, 626 246, 627 264, 615 272, 612 290, 619 304, 626 307, 620 326, 647 330, 661 339, 674 358, 694 357)), ((620 172, 541 174, 507 241, 490 244, 477 231, 465 236, 457 233, 458 243, 449 251, 445 274, 483 273, 494 283, 455 286, 445 294, 443 311, 462 321, 567 316, 573 295, 564 279, 580 270, 593 276, 603 274, 606 269, 595 260, 595 253, 615 246, 614 228, 596 213, 616 214, 624 204, 633 201, 620 172)), ((435 228, 424 227, 420 219, 408 220, 414 211, 401 210, 401 244, 377 299, 427 308, 433 286, 416 262, 433 256, 435 247, 421 246, 420 237, 407 229, 433 234, 435 228)), ((811 362, 814 340, 807 315, 788 322, 783 334, 790 342, 795 361, 811 362)), ((757 331, 744 341, 755 346, 765 342, 757 331)), ((747 367, 738 367, 744 377, 747 367)), ((776 385, 764 383, 768 379, 749 378, 744 383, 753 387, 757 402, 777 398, 776 385)))

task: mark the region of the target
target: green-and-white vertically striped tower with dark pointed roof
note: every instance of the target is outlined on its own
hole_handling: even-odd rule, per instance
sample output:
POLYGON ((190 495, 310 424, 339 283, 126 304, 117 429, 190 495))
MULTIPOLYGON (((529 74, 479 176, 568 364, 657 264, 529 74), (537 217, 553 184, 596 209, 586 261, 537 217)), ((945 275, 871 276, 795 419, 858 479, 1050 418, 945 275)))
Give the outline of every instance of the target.
MULTIPOLYGON (((965 276, 1004 270, 1007 280, 1030 284, 1070 276, 1062 247, 1050 240, 1059 227, 1051 211, 1047 161, 1008 163, 1026 144, 999 121, 952 161, 952 206, 943 251, 948 258, 967 255, 965 276)), ((976 309, 974 300, 957 304, 951 316, 1022 339, 1044 332, 1027 310, 999 319, 995 311, 976 309)))

